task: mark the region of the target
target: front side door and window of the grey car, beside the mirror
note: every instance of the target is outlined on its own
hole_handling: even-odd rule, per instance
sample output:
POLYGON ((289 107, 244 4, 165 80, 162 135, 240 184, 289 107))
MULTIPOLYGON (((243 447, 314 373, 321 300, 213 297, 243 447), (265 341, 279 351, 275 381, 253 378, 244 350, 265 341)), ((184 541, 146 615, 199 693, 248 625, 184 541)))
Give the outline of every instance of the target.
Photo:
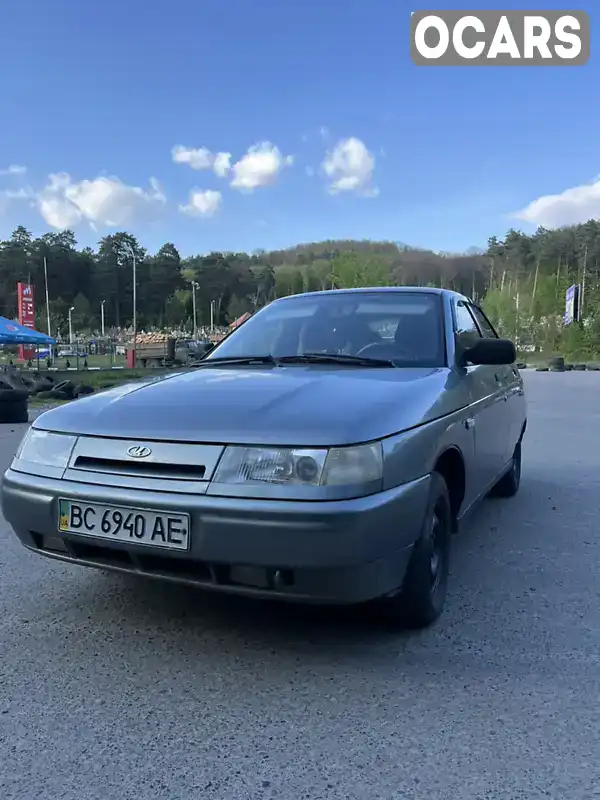
MULTIPOLYGON (((465 348, 482 338, 472 306, 465 300, 454 303, 455 333, 465 348)), ((506 408, 507 376, 504 367, 468 365, 464 368, 472 398, 471 420, 475 431, 475 494, 495 482, 506 463, 509 435, 506 408)))

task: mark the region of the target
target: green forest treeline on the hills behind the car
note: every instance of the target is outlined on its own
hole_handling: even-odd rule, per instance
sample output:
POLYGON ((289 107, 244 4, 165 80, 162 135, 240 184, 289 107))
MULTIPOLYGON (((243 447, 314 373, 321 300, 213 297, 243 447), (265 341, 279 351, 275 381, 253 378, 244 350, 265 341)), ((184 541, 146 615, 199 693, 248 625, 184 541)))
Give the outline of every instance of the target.
POLYGON ((147 252, 127 232, 105 236, 97 249, 79 248, 72 231, 34 238, 24 227, 0 243, 0 315, 17 313, 16 284, 36 287, 38 327, 46 326, 44 259, 53 332, 67 316, 78 332, 97 331, 104 301, 106 327, 132 320, 136 257, 138 328, 224 325, 276 297, 350 286, 441 286, 481 302, 522 348, 592 357, 600 350, 600 222, 527 235, 510 230, 483 252, 434 253, 398 242, 336 240, 254 253, 182 258, 167 242, 147 252), (563 326, 565 292, 583 289, 582 322, 563 326))

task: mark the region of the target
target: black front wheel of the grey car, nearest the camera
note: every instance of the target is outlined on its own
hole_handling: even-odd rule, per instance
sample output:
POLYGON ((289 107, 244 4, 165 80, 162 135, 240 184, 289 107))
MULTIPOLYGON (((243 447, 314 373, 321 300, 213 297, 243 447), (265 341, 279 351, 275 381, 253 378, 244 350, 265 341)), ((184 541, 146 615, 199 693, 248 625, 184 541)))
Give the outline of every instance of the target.
POLYGON ((450 569, 452 511, 446 481, 431 475, 421 534, 415 542, 401 588, 377 603, 384 620, 404 628, 427 628, 440 616, 450 569))

